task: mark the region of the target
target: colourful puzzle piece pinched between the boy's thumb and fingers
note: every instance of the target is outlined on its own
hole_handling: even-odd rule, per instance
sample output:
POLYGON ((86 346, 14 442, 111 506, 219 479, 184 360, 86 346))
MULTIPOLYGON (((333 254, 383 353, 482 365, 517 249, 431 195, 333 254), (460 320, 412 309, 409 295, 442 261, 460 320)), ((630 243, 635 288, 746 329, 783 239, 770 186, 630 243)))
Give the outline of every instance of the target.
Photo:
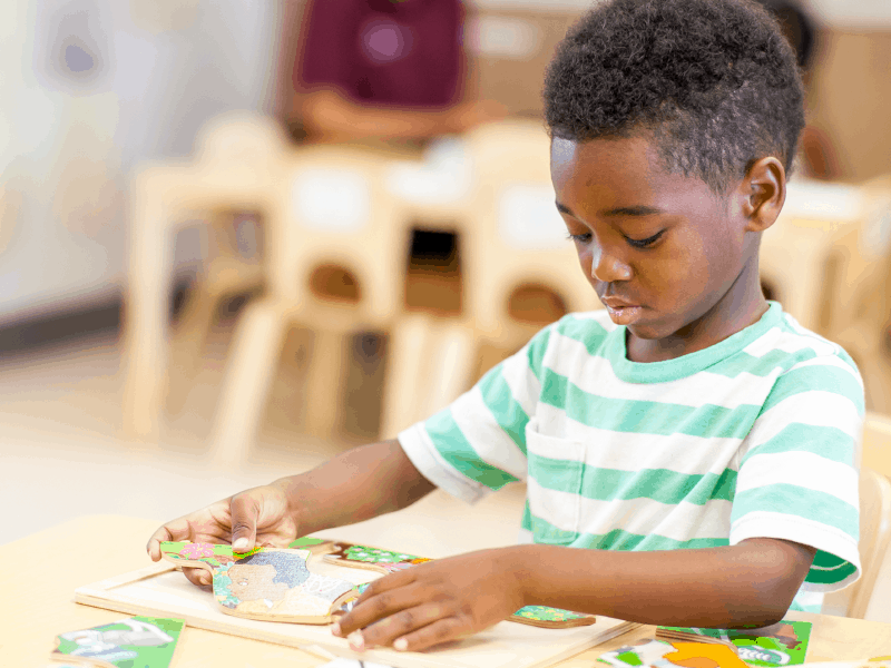
POLYGON ((242 553, 232 546, 163 542, 160 551, 168 561, 210 571, 223 612, 236 617, 329 623, 331 613, 356 596, 352 582, 311 572, 309 550, 254 548, 242 553))

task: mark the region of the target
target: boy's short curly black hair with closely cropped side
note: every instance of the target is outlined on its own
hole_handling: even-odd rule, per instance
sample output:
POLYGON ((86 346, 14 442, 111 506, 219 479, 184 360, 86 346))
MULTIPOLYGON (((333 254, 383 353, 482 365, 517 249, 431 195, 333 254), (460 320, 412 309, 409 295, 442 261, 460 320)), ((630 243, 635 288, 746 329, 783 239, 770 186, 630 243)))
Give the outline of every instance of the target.
POLYGON ((715 193, 765 156, 791 171, 804 127, 795 53, 750 0, 607 0, 558 45, 544 97, 551 137, 652 132, 715 193))

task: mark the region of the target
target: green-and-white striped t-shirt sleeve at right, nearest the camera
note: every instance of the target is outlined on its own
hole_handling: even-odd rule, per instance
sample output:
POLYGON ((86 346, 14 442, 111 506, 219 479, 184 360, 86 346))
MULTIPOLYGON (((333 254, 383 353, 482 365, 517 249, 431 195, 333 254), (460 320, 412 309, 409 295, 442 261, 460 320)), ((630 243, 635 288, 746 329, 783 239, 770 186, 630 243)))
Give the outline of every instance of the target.
POLYGON ((779 538, 816 548, 801 591, 860 577, 859 449, 863 383, 842 351, 780 375, 747 439, 730 543, 779 538))

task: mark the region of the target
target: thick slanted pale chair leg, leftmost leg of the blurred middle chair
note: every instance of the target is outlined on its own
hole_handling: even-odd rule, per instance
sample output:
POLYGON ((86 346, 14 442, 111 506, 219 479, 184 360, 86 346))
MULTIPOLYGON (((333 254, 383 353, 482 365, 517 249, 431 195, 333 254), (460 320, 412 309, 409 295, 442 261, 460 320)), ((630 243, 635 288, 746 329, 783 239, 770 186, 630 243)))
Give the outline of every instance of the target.
POLYGON ((244 462, 256 438, 287 332, 284 305, 263 299, 247 306, 235 332, 210 442, 224 466, 244 462))

